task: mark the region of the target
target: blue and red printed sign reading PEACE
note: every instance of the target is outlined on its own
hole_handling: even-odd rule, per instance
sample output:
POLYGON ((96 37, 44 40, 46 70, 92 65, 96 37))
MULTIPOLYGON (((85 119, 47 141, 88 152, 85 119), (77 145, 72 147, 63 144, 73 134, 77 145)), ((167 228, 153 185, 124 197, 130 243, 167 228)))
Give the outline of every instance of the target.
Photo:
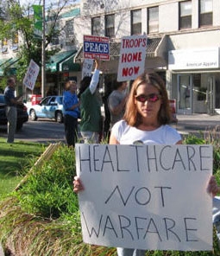
POLYGON ((97 35, 84 35, 84 58, 101 61, 110 60, 110 38, 97 35))

